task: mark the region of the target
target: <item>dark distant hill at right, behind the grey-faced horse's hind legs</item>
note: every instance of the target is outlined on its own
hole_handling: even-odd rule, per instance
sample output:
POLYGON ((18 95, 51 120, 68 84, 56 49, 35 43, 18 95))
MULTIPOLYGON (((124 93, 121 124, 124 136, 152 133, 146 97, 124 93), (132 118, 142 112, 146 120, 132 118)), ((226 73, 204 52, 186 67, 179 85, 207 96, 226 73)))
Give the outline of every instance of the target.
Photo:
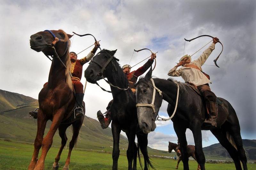
MULTIPOLYGON (((247 152, 249 159, 256 160, 256 140, 242 139, 244 150, 247 152)), ((204 154, 212 157, 228 157, 228 151, 220 143, 212 144, 203 148, 204 154)))

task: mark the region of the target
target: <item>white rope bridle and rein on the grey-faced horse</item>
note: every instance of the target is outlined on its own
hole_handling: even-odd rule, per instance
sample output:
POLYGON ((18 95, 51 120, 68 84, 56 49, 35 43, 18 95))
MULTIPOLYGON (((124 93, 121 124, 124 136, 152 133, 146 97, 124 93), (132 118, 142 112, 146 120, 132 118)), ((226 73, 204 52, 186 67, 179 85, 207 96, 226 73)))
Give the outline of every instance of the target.
POLYGON ((153 110, 153 112, 151 113, 151 118, 152 118, 153 121, 156 121, 156 120, 168 121, 168 120, 172 119, 172 117, 175 115, 176 110, 177 110, 178 99, 179 99, 179 91, 180 91, 179 84, 175 82, 175 84, 176 84, 177 87, 178 87, 178 90, 177 90, 176 104, 175 104, 175 108, 174 108, 174 111, 173 111, 173 113, 172 113, 172 116, 171 116, 170 118, 168 118, 168 119, 164 119, 164 118, 159 117, 158 113, 156 113, 155 105, 154 105, 155 98, 156 98, 156 90, 157 90, 157 92, 159 93, 159 95, 163 98, 162 91, 159 90, 159 89, 156 87, 153 78, 150 78, 150 80, 151 80, 152 85, 153 85, 153 88, 154 88, 154 89, 153 89, 153 96, 152 96, 152 102, 151 102, 151 104, 138 103, 138 104, 136 104, 136 107, 151 107, 152 110, 153 110))

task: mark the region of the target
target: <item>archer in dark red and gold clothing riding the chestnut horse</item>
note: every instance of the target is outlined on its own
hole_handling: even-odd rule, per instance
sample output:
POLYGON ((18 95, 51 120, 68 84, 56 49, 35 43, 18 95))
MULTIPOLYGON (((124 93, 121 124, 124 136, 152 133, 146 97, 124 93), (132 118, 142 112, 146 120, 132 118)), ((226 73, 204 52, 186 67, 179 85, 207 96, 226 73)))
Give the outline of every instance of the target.
MULTIPOLYGON (((75 116, 76 117, 81 117, 84 116, 83 109, 82 109, 82 104, 83 104, 83 99, 84 99, 84 90, 83 90, 83 84, 80 82, 82 78, 82 73, 83 73, 83 65, 87 62, 89 62, 92 57, 95 55, 97 49, 100 47, 99 41, 95 41, 94 43, 94 48, 92 51, 85 56, 84 58, 77 60, 77 55, 75 52, 70 52, 69 57, 71 61, 71 74, 72 74, 72 84, 74 86, 75 92, 76 92, 76 104, 75 104, 75 116)), ((44 84, 47 85, 47 83, 44 84)), ((37 112, 36 111, 30 111, 29 114, 33 116, 35 119, 37 118, 37 112)))

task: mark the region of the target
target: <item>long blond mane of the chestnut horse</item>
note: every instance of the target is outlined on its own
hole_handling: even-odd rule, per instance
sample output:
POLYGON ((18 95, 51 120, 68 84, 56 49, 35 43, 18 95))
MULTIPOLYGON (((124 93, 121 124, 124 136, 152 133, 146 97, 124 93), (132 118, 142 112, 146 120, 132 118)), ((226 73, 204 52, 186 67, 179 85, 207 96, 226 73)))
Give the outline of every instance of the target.
POLYGON ((65 76, 66 76, 66 83, 67 83, 68 87, 70 88, 70 90, 73 92, 74 87, 73 87, 71 76, 70 76, 70 71, 71 71, 71 62, 70 62, 70 57, 69 57, 70 40, 68 38, 67 33, 65 33, 65 31, 63 31, 61 29, 59 29, 59 31, 64 34, 64 36, 65 36, 64 41, 68 42, 68 47, 67 47, 68 49, 67 49, 66 56, 65 56, 65 65, 67 67, 67 69, 65 70, 65 76))

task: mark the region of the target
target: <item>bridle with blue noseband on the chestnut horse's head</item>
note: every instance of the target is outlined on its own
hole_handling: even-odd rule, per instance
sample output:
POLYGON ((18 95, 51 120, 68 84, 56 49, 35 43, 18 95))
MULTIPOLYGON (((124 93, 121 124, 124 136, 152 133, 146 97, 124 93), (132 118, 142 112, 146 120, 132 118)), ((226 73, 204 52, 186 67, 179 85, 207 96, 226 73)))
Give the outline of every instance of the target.
MULTIPOLYGON (((61 61, 61 59, 60 59, 60 57, 59 57, 59 55, 57 54, 56 49, 55 49, 55 45, 56 45, 59 41, 61 41, 61 42, 66 42, 66 41, 59 39, 54 33, 52 33, 51 30, 44 30, 44 31, 47 31, 47 32, 51 33, 52 36, 53 36, 53 38, 54 38, 54 41, 52 41, 51 44, 46 44, 47 46, 49 46, 49 47, 51 47, 51 48, 53 49, 53 53, 54 53, 54 54, 53 54, 51 57, 52 57, 52 58, 57 58, 57 59, 60 61, 60 63, 62 63, 62 65, 65 67, 65 69, 67 69, 66 65, 61 61)), ((66 50, 65 50, 65 52, 63 53, 63 55, 67 52, 67 50, 68 50, 68 42, 67 42, 67 44, 66 44, 66 50)), ((45 55, 47 58, 49 58, 49 60, 52 61, 52 59, 50 59, 49 55, 46 55, 46 54, 44 54, 44 55, 45 55)), ((69 71, 69 74, 70 74, 70 76, 72 77, 72 74, 71 74, 70 71, 69 71)))

